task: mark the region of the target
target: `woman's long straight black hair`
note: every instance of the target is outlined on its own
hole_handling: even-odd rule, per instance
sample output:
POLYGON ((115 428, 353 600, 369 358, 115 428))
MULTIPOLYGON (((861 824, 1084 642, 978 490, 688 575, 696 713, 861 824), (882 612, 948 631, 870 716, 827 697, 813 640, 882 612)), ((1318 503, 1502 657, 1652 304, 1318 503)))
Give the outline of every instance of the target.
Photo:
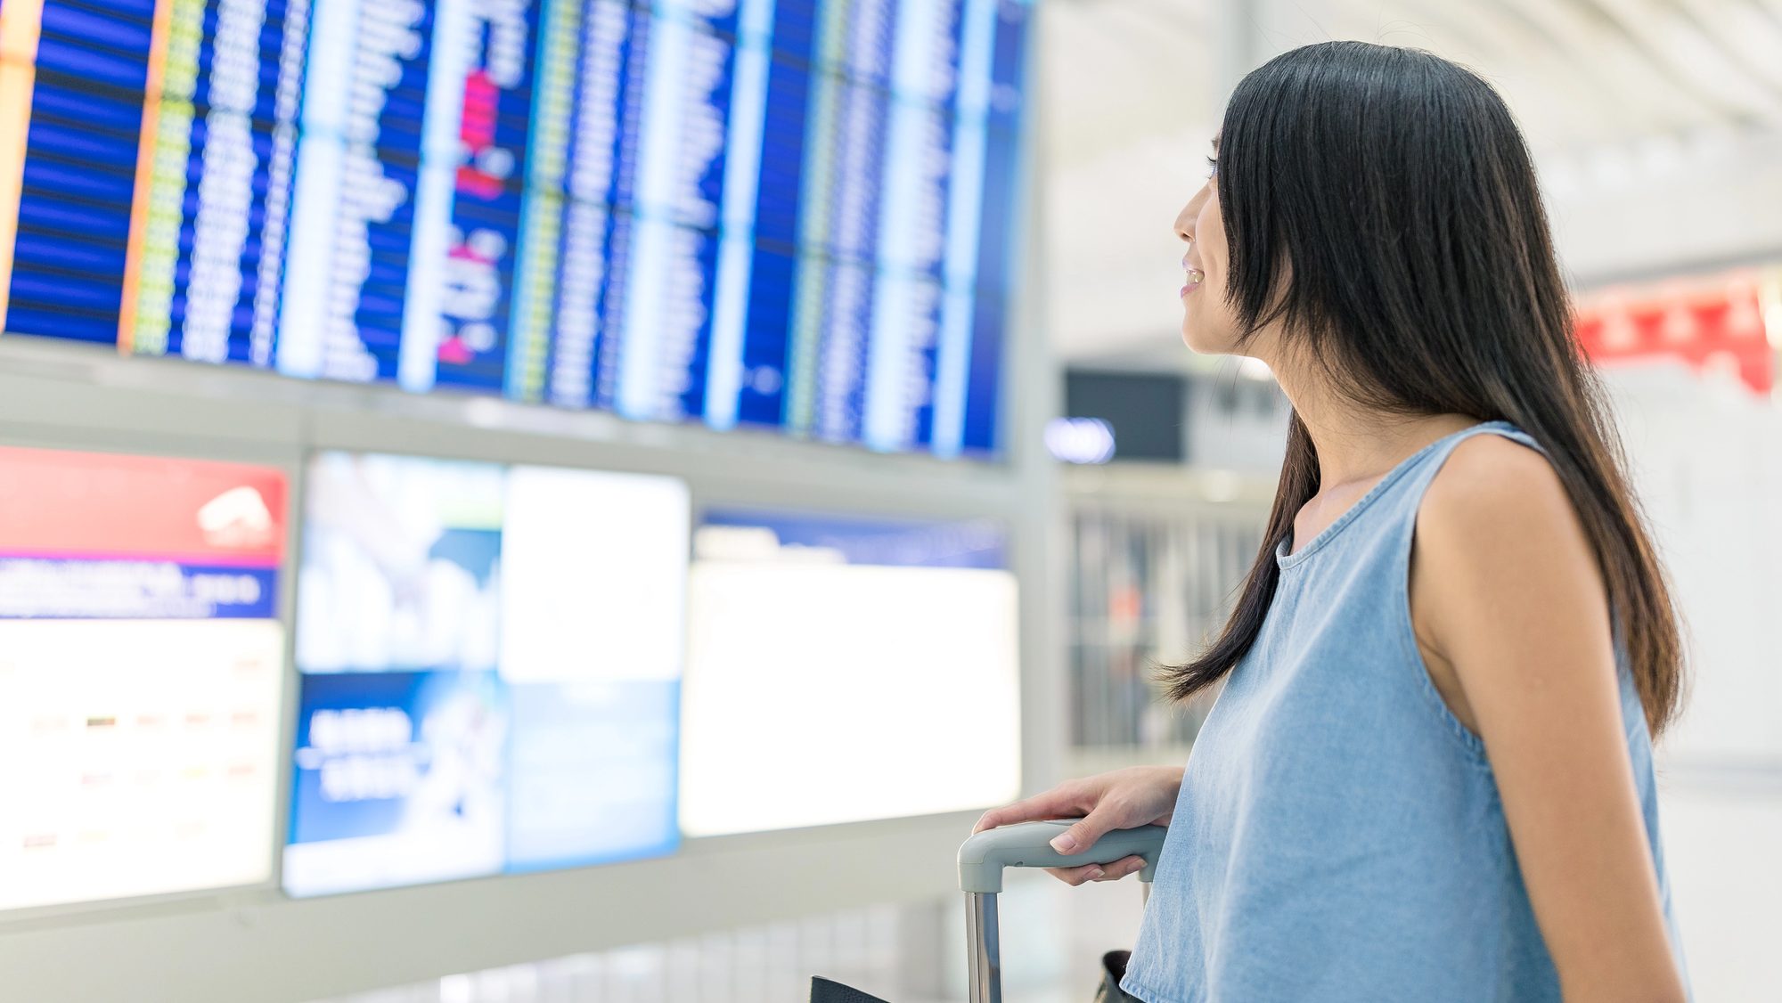
MULTIPOLYGON (((1224 294, 1249 335, 1281 324, 1288 349, 1360 406, 1509 420, 1549 451, 1602 568, 1647 723, 1663 730, 1682 679, 1677 616, 1572 330, 1527 146, 1497 91, 1427 52, 1297 48, 1231 94, 1215 178, 1224 294)), ((1249 652, 1279 581, 1274 550, 1317 490, 1317 449, 1296 413, 1256 563, 1212 647, 1164 670, 1173 698, 1249 652)))

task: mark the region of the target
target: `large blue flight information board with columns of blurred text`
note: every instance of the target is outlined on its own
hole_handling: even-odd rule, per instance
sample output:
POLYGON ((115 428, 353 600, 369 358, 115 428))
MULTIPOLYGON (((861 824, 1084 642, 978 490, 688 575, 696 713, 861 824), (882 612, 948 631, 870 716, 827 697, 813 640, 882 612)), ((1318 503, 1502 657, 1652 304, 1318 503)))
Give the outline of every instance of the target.
POLYGON ((7 0, 0 328, 998 447, 1025 0, 7 0))

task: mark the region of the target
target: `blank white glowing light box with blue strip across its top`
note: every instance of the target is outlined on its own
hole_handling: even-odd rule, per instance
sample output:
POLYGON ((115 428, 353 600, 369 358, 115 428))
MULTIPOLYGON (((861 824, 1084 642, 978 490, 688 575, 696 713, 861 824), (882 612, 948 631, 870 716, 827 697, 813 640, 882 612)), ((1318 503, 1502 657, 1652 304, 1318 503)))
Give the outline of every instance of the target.
POLYGON ((709 511, 688 609, 688 836, 1018 793, 1018 602, 998 524, 709 511))

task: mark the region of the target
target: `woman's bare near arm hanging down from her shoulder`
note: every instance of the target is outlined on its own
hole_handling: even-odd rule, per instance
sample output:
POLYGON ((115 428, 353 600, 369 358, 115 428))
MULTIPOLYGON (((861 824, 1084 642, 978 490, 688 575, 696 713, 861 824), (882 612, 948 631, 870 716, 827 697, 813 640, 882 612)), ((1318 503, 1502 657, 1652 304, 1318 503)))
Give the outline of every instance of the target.
POLYGON ((1568 1003, 1682 1001, 1622 722, 1607 593, 1547 461, 1458 447, 1426 495, 1411 609, 1484 739, 1568 1003))

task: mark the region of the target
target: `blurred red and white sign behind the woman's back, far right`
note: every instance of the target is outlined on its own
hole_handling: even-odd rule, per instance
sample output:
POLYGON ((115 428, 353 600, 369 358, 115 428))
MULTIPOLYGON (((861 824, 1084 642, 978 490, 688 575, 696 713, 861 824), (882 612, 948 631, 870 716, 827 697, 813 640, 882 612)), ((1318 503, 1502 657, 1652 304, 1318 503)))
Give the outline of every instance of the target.
POLYGON ((1670 356, 1737 372, 1759 394, 1775 387, 1755 274, 1590 294, 1577 305, 1577 337, 1593 362, 1670 356))

